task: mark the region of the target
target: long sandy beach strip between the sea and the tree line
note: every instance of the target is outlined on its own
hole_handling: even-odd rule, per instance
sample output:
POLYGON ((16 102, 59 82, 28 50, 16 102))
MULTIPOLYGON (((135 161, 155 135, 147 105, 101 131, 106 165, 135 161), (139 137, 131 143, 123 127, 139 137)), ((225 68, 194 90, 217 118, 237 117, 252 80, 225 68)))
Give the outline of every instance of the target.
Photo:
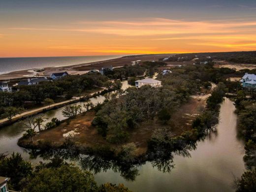
POLYGON ((132 61, 141 60, 144 61, 158 61, 160 58, 168 57, 173 54, 154 54, 154 55, 133 55, 125 56, 117 59, 86 63, 86 64, 76 64, 69 66, 58 66, 58 67, 46 67, 43 71, 36 72, 36 69, 28 69, 21 71, 14 71, 10 73, 5 73, 0 75, 0 80, 11 80, 11 79, 20 79, 20 78, 29 78, 37 76, 50 76, 55 72, 67 71, 69 74, 85 74, 91 69, 101 69, 103 66, 118 67, 124 65, 131 65, 132 61))

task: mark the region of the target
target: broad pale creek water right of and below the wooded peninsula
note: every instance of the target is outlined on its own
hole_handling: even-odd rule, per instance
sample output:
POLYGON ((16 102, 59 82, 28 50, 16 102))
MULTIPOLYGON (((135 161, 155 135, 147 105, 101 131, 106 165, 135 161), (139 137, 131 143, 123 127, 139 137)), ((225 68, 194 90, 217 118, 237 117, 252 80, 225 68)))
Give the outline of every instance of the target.
POLYGON ((134 192, 232 192, 234 176, 245 170, 244 143, 236 137, 233 102, 225 99, 217 132, 197 142, 190 158, 174 155, 174 168, 163 173, 151 162, 140 166, 135 181, 126 181, 112 169, 96 174, 98 183, 124 183, 134 192))

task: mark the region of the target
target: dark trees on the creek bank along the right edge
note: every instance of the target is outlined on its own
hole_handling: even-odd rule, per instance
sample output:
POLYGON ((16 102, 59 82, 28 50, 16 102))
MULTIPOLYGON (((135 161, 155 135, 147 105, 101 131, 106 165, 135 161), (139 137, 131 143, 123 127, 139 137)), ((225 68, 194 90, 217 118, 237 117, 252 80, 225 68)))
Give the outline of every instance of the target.
POLYGON ((247 192, 256 189, 256 94, 255 90, 240 88, 234 97, 238 114, 239 136, 245 140, 244 161, 247 170, 236 179, 236 191, 247 192))

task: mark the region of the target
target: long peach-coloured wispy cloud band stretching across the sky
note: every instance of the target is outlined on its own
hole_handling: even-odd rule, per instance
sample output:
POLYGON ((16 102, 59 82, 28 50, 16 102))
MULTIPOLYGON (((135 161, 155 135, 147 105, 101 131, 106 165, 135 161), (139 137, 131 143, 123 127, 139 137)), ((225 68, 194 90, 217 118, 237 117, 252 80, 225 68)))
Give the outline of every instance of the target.
POLYGON ((119 36, 150 36, 193 33, 244 32, 244 28, 256 30, 256 21, 183 21, 164 18, 148 18, 134 21, 83 21, 66 28, 10 28, 25 31, 63 31, 111 34, 119 36))

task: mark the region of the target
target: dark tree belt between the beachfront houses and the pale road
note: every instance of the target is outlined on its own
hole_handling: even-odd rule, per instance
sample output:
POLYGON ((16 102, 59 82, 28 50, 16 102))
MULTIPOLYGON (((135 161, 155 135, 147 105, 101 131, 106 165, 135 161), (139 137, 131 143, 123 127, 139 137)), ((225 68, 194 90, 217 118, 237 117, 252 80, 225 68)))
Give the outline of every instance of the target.
MULTIPOLYGON (((71 99, 76 94, 88 90, 98 90, 108 81, 99 73, 69 75, 56 81, 44 81, 38 85, 19 86, 13 93, 0 92, 0 117, 10 120, 24 108, 33 108, 71 99)), ((90 93, 90 92, 89 92, 90 93)))

